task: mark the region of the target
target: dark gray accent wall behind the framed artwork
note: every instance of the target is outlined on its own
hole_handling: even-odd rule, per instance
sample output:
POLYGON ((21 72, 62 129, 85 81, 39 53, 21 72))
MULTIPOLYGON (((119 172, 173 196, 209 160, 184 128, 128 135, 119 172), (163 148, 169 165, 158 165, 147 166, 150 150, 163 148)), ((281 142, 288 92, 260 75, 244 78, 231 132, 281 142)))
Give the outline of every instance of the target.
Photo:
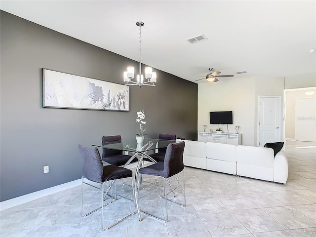
POLYGON ((135 137, 141 109, 147 137, 197 140, 196 83, 154 69, 155 87, 130 87, 129 112, 42 108, 42 68, 122 84, 123 71, 138 62, 4 11, 0 60, 1 201, 81 178, 78 144, 135 137))

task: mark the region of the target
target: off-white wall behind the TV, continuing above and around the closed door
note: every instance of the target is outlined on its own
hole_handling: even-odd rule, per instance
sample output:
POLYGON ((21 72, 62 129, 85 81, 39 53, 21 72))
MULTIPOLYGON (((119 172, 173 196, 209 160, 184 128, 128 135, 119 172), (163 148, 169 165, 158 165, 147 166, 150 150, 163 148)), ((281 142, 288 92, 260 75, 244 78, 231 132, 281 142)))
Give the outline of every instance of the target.
MULTIPOLYGON (((216 129, 217 125, 210 124, 210 111, 233 111, 234 124, 228 125, 229 131, 236 133, 235 126, 239 125, 241 144, 256 146, 258 96, 274 95, 283 98, 283 88, 283 78, 232 78, 220 79, 208 85, 199 83, 197 131, 203 131, 203 124, 207 125, 207 130, 216 129)), ((226 125, 223 130, 227 132, 226 125)))

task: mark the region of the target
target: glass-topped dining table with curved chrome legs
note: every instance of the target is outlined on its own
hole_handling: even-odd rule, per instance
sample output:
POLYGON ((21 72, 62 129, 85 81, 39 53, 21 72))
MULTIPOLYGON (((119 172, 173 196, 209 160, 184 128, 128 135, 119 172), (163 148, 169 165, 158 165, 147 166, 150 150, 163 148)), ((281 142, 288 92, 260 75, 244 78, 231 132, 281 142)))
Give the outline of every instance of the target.
POLYGON ((95 147, 101 147, 101 148, 107 148, 107 149, 114 149, 114 150, 120 150, 122 152, 127 152, 128 154, 132 153, 133 155, 131 158, 125 163, 123 167, 126 167, 130 162, 134 159, 137 158, 137 166, 135 170, 135 175, 134 175, 134 200, 136 204, 136 209, 138 212, 139 216, 139 221, 142 221, 141 217, 141 211, 139 207, 139 202, 138 202, 138 171, 141 168, 142 162, 144 158, 146 160, 149 160, 151 162, 156 163, 157 161, 154 160, 153 158, 150 157, 147 153, 149 152, 154 152, 156 149, 159 148, 165 148, 171 143, 175 143, 176 141, 174 140, 161 140, 161 139, 154 139, 154 138, 144 138, 143 143, 137 143, 136 139, 123 139, 120 141, 115 141, 115 142, 105 142, 102 144, 93 144, 92 146, 95 147))

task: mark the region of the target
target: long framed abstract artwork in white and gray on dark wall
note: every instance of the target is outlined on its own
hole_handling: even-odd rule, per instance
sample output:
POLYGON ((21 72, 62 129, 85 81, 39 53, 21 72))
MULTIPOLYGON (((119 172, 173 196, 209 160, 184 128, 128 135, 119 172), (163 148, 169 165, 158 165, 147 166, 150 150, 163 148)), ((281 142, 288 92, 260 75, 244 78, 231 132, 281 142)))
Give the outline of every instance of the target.
POLYGON ((43 107, 129 111, 129 87, 43 68, 43 107))

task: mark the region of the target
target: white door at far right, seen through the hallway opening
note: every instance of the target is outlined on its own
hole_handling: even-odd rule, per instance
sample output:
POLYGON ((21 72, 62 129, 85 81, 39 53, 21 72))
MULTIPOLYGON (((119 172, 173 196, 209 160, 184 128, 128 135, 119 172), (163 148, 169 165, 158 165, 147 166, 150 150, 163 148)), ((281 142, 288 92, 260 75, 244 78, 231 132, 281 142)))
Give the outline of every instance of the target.
POLYGON ((295 140, 316 142, 316 98, 297 98, 295 103, 295 140))

